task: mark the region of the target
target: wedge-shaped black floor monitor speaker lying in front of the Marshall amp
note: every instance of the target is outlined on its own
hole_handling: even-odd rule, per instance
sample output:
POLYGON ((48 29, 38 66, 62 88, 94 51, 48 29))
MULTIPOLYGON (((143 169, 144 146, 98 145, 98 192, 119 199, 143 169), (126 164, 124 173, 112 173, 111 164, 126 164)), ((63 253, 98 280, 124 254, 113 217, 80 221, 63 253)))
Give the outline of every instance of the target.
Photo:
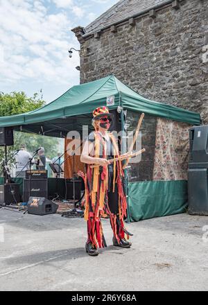
POLYGON ((47 215, 57 211, 58 204, 42 197, 30 197, 28 200, 28 214, 47 215))

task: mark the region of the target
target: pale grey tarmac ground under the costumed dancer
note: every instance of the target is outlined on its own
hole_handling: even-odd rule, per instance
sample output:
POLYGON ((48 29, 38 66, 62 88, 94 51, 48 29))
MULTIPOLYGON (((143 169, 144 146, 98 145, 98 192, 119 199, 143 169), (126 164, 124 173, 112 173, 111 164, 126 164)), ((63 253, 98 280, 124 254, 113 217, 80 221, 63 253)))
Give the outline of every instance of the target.
POLYGON ((208 217, 177 214, 127 223, 132 247, 85 252, 83 218, 0 209, 0 290, 207 290, 208 217))

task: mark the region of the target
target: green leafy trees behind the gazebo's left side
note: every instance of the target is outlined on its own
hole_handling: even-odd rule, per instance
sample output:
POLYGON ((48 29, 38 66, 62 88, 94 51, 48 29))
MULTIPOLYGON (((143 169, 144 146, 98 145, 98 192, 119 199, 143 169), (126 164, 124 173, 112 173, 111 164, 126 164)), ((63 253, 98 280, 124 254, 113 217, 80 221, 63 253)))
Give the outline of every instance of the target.
MULTIPOLYGON (((11 92, 4 94, 0 92, 0 116, 10 116, 36 110, 45 105, 42 97, 37 93, 33 97, 28 97, 24 92, 11 92)), ((32 153, 38 147, 45 148, 46 157, 52 158, 58 153, 60 139, 45 137, 38 134, 29 134, 26 132, 14 132, 14 146, 8 147, 8 157, 12 151, 19 149, 21 143, 26 144, 27 150, 32 153)), ((4 157, 4 148, 0 148, 0 162, 4 157)))

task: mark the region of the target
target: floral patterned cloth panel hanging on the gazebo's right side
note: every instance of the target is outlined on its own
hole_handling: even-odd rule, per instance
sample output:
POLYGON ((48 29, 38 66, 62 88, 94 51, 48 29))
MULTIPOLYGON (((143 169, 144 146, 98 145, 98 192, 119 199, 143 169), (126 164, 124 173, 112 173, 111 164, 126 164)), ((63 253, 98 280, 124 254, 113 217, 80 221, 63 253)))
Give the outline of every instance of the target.
POLYGON ((153 180, 187 180, 190 127, 157 118, 153 180))

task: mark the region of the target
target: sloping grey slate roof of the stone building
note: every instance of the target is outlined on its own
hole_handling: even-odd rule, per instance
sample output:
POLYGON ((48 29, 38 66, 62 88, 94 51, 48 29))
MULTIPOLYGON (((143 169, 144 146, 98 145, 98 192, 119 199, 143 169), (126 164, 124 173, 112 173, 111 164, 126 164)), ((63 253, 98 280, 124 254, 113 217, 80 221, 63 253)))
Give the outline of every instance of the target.
POLYGON ((139 15, 144 10, 150 10, 155 6, 163 6, 171 2, 168 0, 120 0, 112 8, 103 13, 91 24, 85 27, 85 33, 94 33, 102 28, 111 26, 115 22, 121 21, 124 18, 139 15))

